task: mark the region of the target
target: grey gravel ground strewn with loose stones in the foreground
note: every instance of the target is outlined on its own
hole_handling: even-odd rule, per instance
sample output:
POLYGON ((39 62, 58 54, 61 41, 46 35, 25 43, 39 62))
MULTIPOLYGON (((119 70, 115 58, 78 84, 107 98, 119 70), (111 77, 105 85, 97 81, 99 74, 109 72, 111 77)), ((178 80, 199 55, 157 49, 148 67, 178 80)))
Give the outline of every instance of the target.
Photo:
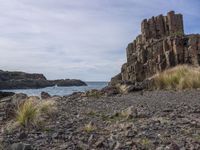
POLYGON ((77 94, 57 101, 57 114, 43 128, 1 132, 4 149, 18 142, 41 150, 200 149, 199 90, 77 94))

